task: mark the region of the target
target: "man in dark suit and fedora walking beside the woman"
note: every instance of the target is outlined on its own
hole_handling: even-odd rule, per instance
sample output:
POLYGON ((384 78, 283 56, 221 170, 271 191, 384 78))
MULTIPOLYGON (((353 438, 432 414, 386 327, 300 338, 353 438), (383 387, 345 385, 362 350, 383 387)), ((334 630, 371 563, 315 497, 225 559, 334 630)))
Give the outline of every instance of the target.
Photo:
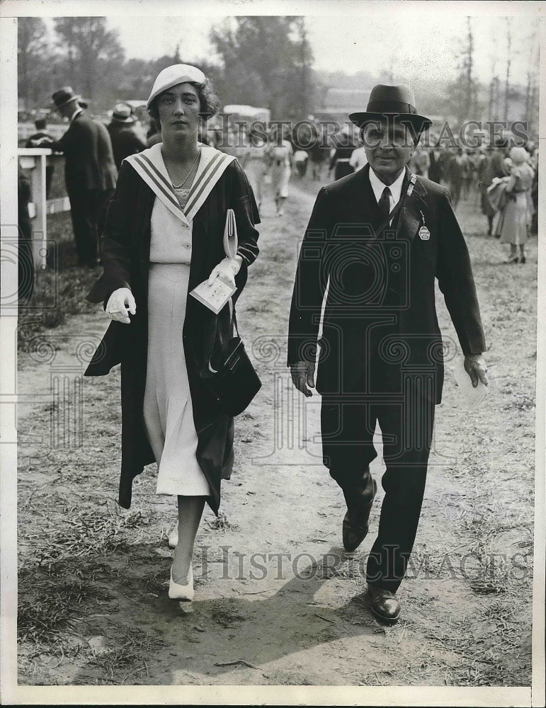
POLYGON ((311 396, 322 300, 317 391, 324 464, 343 491, 343 545, 368 533, 376 492, 369 464, 376 421, 387 470, 379 532, 366 579, 375 616, 396 622, 414 544, 443 384, 434 279, 474 386, 487 385, 479 307, 465 240, 447 191, 406 164, 431 121, 409 86, 375 86, 360 127, 369 166, 320 190, 297 265, 288 365, 311 396))

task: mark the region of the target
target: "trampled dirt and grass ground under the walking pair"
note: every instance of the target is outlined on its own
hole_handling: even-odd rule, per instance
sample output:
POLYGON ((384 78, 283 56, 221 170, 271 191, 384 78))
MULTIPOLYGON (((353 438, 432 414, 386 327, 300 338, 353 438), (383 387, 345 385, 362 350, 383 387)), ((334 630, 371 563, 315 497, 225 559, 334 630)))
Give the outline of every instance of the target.
MULTIPOLYGON (((21 356, 21 683, 530 685, 536 240, 527 265, 500 265, 484 217, 462 205, 491 394, 470 415, 447 377, 414 577, 399 593, 402 619, 383 627, 361 573, 382 493, 370 535, 345 554, 343 497, 320 463, 319 399, 296 396, 285 367, 298 242, 316 192, 295 184, 282 219, 271 202, 263 209, 261 256, 239 305, 263 389, 237 420, 222 515, 207 512, 200 529, 193 615, 166 597, 175 504, 155 496, 154 468, 135 481, 129 512, 115 505, 119 372, 85 379, 79 399, 76 350, 89 356, 82 342, 101 335, 103 313, 90 307, 47 333, 55 360, 45 347, 21 356)), ((379 481, 380 456, 372 471, 379 481)))

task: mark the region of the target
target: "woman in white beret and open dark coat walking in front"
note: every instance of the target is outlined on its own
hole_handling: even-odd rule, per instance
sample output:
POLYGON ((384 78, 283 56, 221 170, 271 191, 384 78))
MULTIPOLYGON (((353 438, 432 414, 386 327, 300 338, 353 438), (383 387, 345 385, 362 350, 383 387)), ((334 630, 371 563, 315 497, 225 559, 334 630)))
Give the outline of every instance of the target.
POLYGON ((161 141, 120 169, 102 241, 104 273, 89 292, 111 322, 86 375, 121 362, 120 505, 132 479, 159 465, 157 493, 178 497, 178 542, 169 597, 193 598, 191 559, 205 501, 215 513, 220 479, 233 465, 233 419, 200 372, 232 336, 229 303, 215 315, 188 293, 221 277, 237 286, 258 254, 254 195, 233 156, 198 142, 219 105, 199 69, 176 64, 154 83, 147 107, 161 141), (237 221, 237 256, 224 256, 227 209, 237 221))

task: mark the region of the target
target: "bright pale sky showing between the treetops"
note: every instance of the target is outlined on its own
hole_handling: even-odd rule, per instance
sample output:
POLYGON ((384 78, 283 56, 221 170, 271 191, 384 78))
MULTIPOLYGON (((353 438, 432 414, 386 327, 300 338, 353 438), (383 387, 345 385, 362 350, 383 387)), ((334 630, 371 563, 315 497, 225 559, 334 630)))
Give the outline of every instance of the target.
MULTIPOLYGON (((472 5, 469 3, 470 7, 472 5)), ((341 69, 348 74, 364 69, 376 74, 392 66, 394 74, 398 73, 401 80, 426 73, 453 77, 453 52, 457 51, 467 33, 465 16, 461 13, 448 15, 445 11, 410 15, 406 11, 377 13, 374 6, 371 6, 373 11, 366 7, 364 4, 358 14, 349 15, 339 6, 334 20, 331 16, 307 16, 316 69, 341 69)), ((152 59, 174 52, 179 44, 181 55, 188 61, 196 61, 211 57, 208 34, 210 28, 220 24, 222 19, 221 16, 108 16, 108 24, 119 31, 127 57, 152 59), (144 28, 145 41, 142 38, 144 28)), ((494 62, 496 73, 504 76, 506 18, 474 16, 471 24, 477 78, 488 83, 494 62)), ((537 26, 529 15, 511 19, 512 81, 526 83, 533 31, 537 26)))

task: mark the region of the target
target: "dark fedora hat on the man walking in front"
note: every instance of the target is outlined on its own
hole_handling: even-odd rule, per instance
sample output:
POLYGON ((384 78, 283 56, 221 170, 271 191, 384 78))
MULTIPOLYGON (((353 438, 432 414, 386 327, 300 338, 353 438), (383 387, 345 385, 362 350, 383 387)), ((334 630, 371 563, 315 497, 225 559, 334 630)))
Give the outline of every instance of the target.
POLYGON ((415 108, 415 96, 409 86, 385 86, 377 84, 370 93, 368 108, 361 113, 350 113, 349 118, 358 127, 366 123, 381 120, 387 115, 397 116, 403 122, 410 122, 417 133, 431 127, 430 118, 419 115, 415 108))

